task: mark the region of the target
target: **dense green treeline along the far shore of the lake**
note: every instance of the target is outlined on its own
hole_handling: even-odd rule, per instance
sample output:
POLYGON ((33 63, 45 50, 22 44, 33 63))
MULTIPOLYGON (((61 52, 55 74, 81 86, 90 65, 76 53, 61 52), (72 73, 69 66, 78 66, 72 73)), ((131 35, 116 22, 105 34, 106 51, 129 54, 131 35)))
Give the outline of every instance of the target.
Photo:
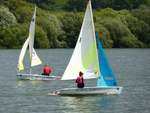
MULTIPOLYGON (((1 0, 0 48, 21 48, 37 8, 35 48, 74 48, 86 0, 1 0), (79 12, 80 11, 80 12, 79 12)), ((150 47, 150 0, 92 0, 104 47, 150 47)))

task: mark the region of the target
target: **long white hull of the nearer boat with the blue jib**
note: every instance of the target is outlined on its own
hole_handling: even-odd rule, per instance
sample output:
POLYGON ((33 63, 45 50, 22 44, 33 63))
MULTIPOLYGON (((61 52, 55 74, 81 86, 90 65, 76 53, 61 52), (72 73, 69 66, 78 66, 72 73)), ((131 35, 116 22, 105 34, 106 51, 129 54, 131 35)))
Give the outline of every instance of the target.
POLYGON ((62 96, 87 96, 87 95, 118 95, 122 92, 122 87, 85 87, 85 88, 64 88, 53 92, 62 96))

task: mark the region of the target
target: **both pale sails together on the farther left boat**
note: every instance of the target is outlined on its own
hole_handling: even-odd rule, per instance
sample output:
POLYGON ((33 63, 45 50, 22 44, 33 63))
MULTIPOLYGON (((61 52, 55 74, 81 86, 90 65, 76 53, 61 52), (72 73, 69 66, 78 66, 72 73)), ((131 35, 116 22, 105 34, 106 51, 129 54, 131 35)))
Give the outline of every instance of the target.
POLYGON ((24 70, 23 60, 24 60, 24 56, 25 56, 26 49, 28 46, 29 46, 31 67, 42 63, 33 48, 34 47, 34 35, 35 35, 35 20, 36 20, 36 7, 35 7, 35 11, 34 11, 31 23, 30 23, 29 36, 28 36, 27 40, 25 41, 25 43, 22 47, 22 50, 20 52, 20 55, 19 55, 19 60, 18 60, 18 70, 19 71, 24 70))

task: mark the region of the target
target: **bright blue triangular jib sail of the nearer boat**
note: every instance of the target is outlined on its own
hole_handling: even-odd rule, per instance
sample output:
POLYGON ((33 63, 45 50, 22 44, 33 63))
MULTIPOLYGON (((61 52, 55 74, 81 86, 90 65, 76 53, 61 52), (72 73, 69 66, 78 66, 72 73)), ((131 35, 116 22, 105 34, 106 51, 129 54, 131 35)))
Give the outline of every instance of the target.
POLYGON ((98 58, 99 58, 99 65, 100 65, 100 72, 101 72, 101 76, 99 76, 97 80, 97 86, 117 86, 117 81, 107 61, 105 51, 98 37, 98 33, 96 33, 96 42, 97 42, 98 58))

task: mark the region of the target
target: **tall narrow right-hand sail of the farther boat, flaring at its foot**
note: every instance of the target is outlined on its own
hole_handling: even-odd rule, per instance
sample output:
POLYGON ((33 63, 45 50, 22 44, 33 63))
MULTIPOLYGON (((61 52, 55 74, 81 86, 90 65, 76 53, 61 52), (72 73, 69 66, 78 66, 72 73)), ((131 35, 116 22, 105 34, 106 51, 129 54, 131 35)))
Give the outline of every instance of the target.
POLYGON ((29 30, 29 53, 30 53, 31 67, 42 63, 33 48, 34 47, 34 35, 35 35, 35 21, 36 21, 36 7, 35 7, 35 11, 32 17, 32 21, 30 23, 30 30, 29 30))

